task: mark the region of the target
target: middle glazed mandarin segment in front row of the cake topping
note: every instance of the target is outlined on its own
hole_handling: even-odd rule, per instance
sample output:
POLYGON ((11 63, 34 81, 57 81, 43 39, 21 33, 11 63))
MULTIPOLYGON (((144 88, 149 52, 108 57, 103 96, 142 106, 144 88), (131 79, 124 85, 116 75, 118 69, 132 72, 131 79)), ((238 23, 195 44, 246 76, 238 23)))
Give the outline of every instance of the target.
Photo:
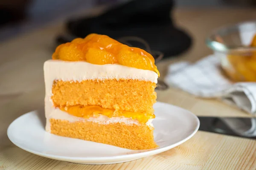
POLYGON ((88 48, 85 58, 87 62, 98 65, 117 63, 112 53, 98 48, 88 48))

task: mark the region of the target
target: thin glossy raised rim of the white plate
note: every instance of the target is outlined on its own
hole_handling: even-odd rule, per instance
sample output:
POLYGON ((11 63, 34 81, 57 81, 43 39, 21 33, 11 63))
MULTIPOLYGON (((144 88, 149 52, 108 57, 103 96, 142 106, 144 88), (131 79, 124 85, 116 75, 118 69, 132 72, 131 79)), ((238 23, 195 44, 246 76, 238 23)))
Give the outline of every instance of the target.
POLYGON ((21 149, 23 150, 26 150, 27 152, 29 153, 33 153, 35 155, 38 155, 38 156, 43 156, 43 157, 47 157, 47 158, 51 158, 51 159, 58 159, 58 160, 67 160, 67 161, 116 161, 116 159, 139 159, 139 158, 143 158, 145 156, 152 156, 152 155, 155 155, 155 154, 158 154, 158 153, 162 153, 166 150, 170 150, 184 142, 186 142, 187 140, 189 140, 190 138, 192 138, 192 136, 195 135, 195 133, 198 131, 199 129, 199 126, 200 126, 200 121, 198 119, 198 117, 192 113, 191 111, 188 111, 184 108, 180 108, 178 106, 175 106, 175 105, 172 105, 172 104, 169 104, 169 103, 165 103, 165 102, 156 102, 156 103, 159 103, 159 104, 164 104, 164 105, 171 105, 172 107, 176 108, 176 109, 180 109, 180 110, 183 110, 183 111, 186 111, 187 113, 189 113, 193 119, 195 119, 195 122, 197 123, 195 129, 193 130, 193 132, 187 136, 186 138, 184 138, 183 140, 175 143, 175 144, 172 144, 172 145, 168 145, 168 146, 165 146, 165 147, 161 147, 161 148, 154 148, 154 149, 149 149, 149 150, 145 150, 144 152, 140 152, 140 153, 128 153, 128 154, 125 154, 125 155, 119 155, 119 156, 102 156, 102 157, 75 157, 75 156, 58 156, 58 155, 53 155, 53 154, 49 154, 49 153, 41 153, 41 152, 38 152, 38 151, 34 151, 34 150, 30 150, 30 149, 27 149, 25 147, 22 147, 20 146, 19 144, 15 144, 15 142, 12 141, 12 139, 10 139, 9 137, 9 129, 11 127, 11 125, 17 120, 17 119, 20 119, 22 116, 25 116, 27 114, 33 114, 33 112, 36 112, 38 111, 39 109, 37 110, 33 110, 33 111, 29 111, 19 117, 17 117, 14 121, 12 121, 12 123, 9 125, 9 127, 7 128, 7 136, 9 138, 9 140, 15 144, 17 147, 20 147, 21 149))

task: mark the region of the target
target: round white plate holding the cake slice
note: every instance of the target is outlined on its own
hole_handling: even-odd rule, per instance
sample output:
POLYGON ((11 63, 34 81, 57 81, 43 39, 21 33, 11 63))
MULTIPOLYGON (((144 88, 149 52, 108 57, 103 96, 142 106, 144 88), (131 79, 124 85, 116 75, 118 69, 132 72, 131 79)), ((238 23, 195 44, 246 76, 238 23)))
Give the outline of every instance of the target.
POLYGON ((190 139, 199 128, 197 116, 185 109, 157 102, 154 110, 154 140, 159 147, 151 150, 129 150, 47 133, 43 110, 17 118, 7 135, 17 147, 39 156, 79 164, 114 164, 169 150, 190 139))

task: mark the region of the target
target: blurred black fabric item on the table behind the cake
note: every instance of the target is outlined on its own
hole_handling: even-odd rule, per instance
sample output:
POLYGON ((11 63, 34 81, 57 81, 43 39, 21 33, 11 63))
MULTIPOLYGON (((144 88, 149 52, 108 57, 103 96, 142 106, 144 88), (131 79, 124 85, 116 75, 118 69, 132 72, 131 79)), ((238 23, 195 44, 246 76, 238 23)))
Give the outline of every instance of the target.
MULTIPOLYGON (((113 39, 140 37, 152 50, 163 52, 165 57, 175 56, 186 51, 192 39, 175 27, 170 17, 173 7, 172 0, 132 0, 97 17, 70 20, 67 31, 75 37, 86 37, 90 33, 105 34, 113 39)), ((141 44, 133 46, 143 48, 141 44)))

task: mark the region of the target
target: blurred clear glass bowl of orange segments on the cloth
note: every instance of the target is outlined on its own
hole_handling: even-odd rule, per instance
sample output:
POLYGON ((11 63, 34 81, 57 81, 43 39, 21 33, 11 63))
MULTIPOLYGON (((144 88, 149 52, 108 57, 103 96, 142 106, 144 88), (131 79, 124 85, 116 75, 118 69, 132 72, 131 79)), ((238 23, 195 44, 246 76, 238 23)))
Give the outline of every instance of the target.
POLYGON ((256 21, 213 31, 206 44, 220 57, 221 67, 236 82, 256 82, 256 21))

